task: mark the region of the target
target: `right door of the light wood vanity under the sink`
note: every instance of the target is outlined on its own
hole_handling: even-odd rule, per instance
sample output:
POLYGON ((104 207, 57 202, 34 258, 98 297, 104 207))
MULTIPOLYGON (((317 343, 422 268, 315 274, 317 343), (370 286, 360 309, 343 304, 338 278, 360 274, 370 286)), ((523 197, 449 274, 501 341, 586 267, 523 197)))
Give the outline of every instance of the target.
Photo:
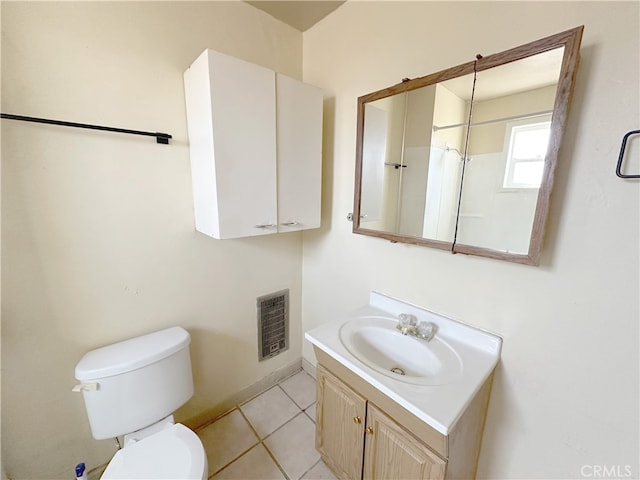
POLYGON ((369 404, 365 436, 364 478, 441 480, 447 463, 391 418, 369 404))

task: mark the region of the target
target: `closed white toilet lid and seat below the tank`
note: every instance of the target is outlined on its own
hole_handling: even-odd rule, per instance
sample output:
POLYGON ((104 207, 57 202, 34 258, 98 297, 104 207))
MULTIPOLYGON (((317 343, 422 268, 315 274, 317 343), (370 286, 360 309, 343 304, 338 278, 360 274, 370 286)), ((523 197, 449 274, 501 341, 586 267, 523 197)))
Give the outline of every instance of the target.
POLYGON ((200 439, 177 423, 118 450, 101 478, 202 480, 207 469, 200 439))

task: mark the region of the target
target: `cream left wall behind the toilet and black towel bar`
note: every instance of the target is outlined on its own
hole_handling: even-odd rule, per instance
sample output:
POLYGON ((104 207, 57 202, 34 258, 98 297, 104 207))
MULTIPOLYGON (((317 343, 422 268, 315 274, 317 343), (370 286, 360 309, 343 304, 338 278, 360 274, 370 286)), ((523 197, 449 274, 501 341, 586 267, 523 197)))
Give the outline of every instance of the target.
POLYGON ((2 121, 2 437, 10 478, 73 478, 91 438, 74 367, 171 325, 208 409, 301 355, 302 235, 197 234, 182 74, 207 47, 292 77, 302 34, 243 2, 2 2, 2 111, 167 132, 2 121), (291 349, 258 363, 255 301, 291 289, 291 349))

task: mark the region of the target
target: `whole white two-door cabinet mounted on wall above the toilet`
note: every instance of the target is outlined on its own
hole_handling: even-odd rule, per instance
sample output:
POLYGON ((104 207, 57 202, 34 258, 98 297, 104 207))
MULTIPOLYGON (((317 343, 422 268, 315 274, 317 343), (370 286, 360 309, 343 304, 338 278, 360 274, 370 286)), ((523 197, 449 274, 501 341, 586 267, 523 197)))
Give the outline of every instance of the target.
POLYGON ((196 229, 225 239, 319 227, 321 90, 213 50, 184 77, 196 229))

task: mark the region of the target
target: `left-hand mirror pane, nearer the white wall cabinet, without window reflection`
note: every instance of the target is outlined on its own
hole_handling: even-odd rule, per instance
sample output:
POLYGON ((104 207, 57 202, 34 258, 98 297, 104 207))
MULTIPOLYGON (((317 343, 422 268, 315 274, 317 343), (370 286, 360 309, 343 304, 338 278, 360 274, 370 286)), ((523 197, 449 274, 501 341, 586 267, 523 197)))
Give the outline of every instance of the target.
POLYGON ((466 75, 364 105, 363 228, 453 243, 472 87, 466 75))

